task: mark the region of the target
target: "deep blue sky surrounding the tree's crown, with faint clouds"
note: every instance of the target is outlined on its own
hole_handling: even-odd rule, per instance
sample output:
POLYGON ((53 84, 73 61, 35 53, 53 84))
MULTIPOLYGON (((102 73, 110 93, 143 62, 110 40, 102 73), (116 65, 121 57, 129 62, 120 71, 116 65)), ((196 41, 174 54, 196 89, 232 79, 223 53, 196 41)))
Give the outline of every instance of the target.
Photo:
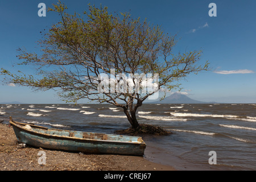
MULTIPOLYGON (((0 2, 0 68, 17 71, 16 49, 36 51, 40 31, 51 27, 59 16, 38 16, 38 4, 51 7, 57 1, 0 2)), ((256 103, 256 1, 62 1, 68 12, 82 13, 90 2, 108 6, 109 11, 130 11, 133 18, 147 18, 165 32, 177 34, 174 52, 203 49, 201 63, 209 60, 213 71, 190 75, 181 81, 181 92, 201 101, 256 103), (210 17, 209 3, 216 3, 217 16, 210 17)), ((30 73, 32 67, 22 67, 30 73)), ((2 77, 0 77, 2 79, 2 77)), ((0 85, 0 102, 19 101, 33 104, 61 103, 54 91, 33 92, 30 88, 0 85)))

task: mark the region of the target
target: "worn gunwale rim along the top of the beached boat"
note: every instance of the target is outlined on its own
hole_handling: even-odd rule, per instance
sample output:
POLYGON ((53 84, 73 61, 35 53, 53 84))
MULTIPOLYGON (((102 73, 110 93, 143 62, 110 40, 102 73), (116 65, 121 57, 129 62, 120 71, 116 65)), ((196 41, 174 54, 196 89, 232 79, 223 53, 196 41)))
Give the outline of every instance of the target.
MULTIPOLYGON (((14 125, 15 127, 18 127, 20 130, 24 130, 28 133, 32 133, 32 134, 36 134, 36 135, 43 135, 47 138, 58 138, 58 139, 68 139, 68 140, 80 140, 80 141, 90 141, 90 142, 106 142, 106 143, 127 143, 127 144, 139 144, 139 145, 146 145, 146 143, 144 143, 142 137, 136 137, 138 138, 138 140, 140 140, 140 142, 129 142, 129 141, 115 141, 115 140, 102 140, 102 139, 89 139, 89 138, 78 138, 78 137, 67 137, 67 136, 61 136, 61 135, 51 135, 51 134, 47 134, 47 133, 40 133, 38 131, 33 131, 33 130, 29 130, 29 129, 25 129, 23 126, 29 125, 31 127, 37 127, 39 129, 43 129, 43 130, 56 130, 56 131, 68 131, 68 132, 72 132, 72 130, 61 130, 61 129, 51 129, 48 127, 43 127, 43 126, 38 126, 38 125, 34 125, 34 124, 29 124, 29 123, 21 123, 21 122, 17 122, 17 121, 13 121, 10 120, 9 121, 11 125, 14 125)), ((86 131, 75 131, 75 132, 81 132, 81 133, 90 133, 90 132, 86 132, 86 131)), ((94 134, 100 134, 100 133, 94 133, 94 134)), ((112 135, 112 134, 103 134, 103 135, 112 135)), ((123 135, 115 135, 118 137, 123 137, 123 135)), ((127 136, 127 137, 131 137, 131 136, 127 136)))

